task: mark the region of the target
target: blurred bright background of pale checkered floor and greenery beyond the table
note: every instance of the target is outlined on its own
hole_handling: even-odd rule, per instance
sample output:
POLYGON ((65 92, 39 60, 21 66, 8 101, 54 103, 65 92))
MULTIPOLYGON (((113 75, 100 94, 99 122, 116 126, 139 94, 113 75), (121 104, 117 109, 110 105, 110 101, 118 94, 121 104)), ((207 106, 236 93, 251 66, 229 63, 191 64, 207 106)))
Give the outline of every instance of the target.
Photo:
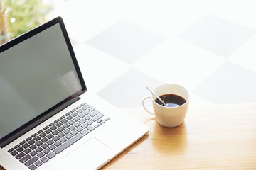
POLYGON ((191 105, 256 102, 255 1, 0 0, 0 14, 1 44, 62 16, 88 91, 119 108, 164 83, 191 105))

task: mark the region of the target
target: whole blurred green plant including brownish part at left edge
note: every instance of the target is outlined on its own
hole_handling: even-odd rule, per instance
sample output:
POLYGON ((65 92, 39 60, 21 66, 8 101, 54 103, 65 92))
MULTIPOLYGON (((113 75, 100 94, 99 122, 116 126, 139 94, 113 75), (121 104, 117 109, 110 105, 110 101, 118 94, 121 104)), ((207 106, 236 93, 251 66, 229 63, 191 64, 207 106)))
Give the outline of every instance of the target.
POLYGON ((0 0, 0 43, 44 23, 48 11, 42 0, 0 0))

